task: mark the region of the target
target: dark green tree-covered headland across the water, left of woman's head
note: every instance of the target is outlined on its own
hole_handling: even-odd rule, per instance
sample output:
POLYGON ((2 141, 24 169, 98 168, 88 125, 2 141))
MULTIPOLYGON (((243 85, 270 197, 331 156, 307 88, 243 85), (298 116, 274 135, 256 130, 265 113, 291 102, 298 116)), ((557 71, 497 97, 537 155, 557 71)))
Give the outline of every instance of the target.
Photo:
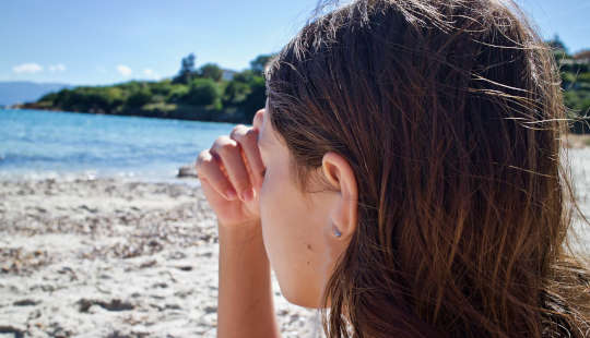
POLYGON ((61 89, 22 108, 250 123, 264 107, 263 71, 271 58, 259 56, 249 69, 232 72, 215 63, 197 69, 191 53, 173 79, 61 89))

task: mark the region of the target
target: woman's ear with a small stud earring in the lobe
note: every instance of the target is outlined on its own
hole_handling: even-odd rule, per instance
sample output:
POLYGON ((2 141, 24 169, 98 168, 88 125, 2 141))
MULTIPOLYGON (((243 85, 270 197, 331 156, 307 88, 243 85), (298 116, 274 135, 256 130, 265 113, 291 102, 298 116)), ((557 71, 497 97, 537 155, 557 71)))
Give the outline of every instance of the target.
POLYGON ((344 157, 333 152, 323 155, 321 169, 335 193, 330 206, 330 220, 342 233, 339 240, 349 240, 356 231, 358 220, 358 190, 354 171, 344 157))

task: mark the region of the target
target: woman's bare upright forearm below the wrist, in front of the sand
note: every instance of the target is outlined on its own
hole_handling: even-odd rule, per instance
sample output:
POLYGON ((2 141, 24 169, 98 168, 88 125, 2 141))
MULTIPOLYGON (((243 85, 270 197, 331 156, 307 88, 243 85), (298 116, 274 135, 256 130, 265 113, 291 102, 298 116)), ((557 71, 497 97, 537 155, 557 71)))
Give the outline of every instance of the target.
POLYGON ((217 337, 280 337, 260 225, 219 229, 217 337))

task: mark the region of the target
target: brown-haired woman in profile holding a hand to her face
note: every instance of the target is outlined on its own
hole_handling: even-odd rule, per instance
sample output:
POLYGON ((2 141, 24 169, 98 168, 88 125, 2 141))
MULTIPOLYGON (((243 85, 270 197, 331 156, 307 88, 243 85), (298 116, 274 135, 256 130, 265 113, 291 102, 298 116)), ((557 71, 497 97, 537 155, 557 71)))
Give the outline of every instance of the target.
POLYGON ((268 100, 200 154, 220 337, 586 337, 588 270, 551 51, 512 3, 357 0, 305 26, 268 100), (329 309, 329 311, 326 311, 329 309))

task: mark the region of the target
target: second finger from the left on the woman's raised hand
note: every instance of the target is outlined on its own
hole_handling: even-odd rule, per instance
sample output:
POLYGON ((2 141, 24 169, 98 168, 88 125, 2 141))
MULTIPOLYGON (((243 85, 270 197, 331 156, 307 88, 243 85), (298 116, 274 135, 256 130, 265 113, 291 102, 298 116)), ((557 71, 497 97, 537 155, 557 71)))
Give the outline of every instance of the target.
POLYGON ((227 136, 221 136, 211 147, 211 153, 220 157, 229 177, 229 182, 234 185, 240 200, 244 202, 252 200, 253 191, 250 184, 250 176, 244 164, 239 144, 227 136))

